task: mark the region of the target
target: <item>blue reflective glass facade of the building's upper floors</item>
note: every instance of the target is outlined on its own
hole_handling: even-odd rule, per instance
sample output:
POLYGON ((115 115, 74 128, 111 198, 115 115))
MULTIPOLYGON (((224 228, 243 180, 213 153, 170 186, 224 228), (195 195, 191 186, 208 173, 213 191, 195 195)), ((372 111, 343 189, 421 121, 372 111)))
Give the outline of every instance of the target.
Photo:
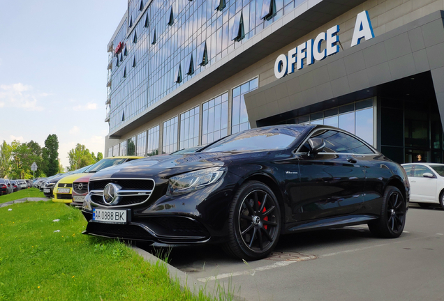
MULTIPOLYGON (((112 41, 114 49, 124 46, 112 63, 110 131, 306 1, 227 0, 223 7, 214 0, 129 0, 126 20, 112 41)), ((239 119, 239 130, 247 124, 239 119)))

